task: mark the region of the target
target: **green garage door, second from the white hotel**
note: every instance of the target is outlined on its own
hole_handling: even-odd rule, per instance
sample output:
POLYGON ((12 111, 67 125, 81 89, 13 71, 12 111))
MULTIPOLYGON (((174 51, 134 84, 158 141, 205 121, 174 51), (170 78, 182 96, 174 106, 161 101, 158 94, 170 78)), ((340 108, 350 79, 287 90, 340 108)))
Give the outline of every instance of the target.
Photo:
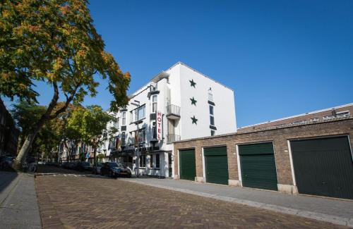
POLYGON ((206 182, 228 185, 227 147, 203 149, 206 182))

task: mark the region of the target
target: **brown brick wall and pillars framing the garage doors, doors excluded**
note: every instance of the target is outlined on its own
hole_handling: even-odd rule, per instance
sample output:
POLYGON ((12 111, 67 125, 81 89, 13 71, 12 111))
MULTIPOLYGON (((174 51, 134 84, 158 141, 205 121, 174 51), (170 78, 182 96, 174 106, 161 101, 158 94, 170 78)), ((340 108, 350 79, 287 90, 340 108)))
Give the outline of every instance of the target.
MULTIPOLYGON (((289 159, 288 140, 299 140, 303 138, 324 137, 335 135, 349 135, 353 142, 353 118, 337 118, 325 120, 318 123, 290 125, 284 128, 267 128, 249 132, 238 132, 232 135, 220 135, 204 137, 194 140, 184 140, 174 143, 174 174, 178 174, 178 150, 194 148, 196 152, 196 181, 203 182, 203 147, 227 146, 229 185, 239 183, 237 144, 256 142, 273 142, 275 149, 275 162, 277 168, 278 184, 293 185, 292 168, 289 159)), ((289 187, 289 186, 288 186, 289 187)), ((295 188, 295 187, 294 187, 295 188)), ((279 189, 280 190, 280 189, 279 189)), ((280 190, 281 191, 281 190, 280 190)), ((283 192, 295 192, 295 190, 283 190, 283 192)))

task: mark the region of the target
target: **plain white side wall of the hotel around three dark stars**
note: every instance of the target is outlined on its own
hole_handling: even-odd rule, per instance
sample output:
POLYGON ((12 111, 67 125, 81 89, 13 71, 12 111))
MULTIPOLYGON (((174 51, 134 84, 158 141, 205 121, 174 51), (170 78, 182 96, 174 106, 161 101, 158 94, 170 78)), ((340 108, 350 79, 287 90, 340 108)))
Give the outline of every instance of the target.
POLYGON ((206 78, 201 73, 179 64, 181 80, 181 140, 195 137, 210 136, 210 110, 208 104, 208 89, 213 92, 215 113, 215 135, 236 132, 234 92, 219 83, 206 78), (191 87, 189 80, 196 82, 196 88, 191 87), (191 105, 191 98, 197 100, 196 106, 191 105), (198 119, 197 125, 191 117, 198 119))

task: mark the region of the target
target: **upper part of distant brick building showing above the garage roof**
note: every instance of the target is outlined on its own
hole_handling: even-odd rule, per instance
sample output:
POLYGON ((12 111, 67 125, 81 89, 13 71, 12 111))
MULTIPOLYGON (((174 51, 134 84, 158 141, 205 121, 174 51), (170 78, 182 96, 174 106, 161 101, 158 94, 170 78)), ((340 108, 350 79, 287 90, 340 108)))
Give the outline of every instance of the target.
POLYGON ((342 106, 335 106, 332 108, 323 109, 319 111, 302 113, 297 116, 289 116, 286 118, 270 120, 264 123, 247 125, 242 128, 238 128, 238 132, 247 132, 251 130, 258 130, 258 129, 271 128, 271 127, 282 127, 284 125, 315 123, 321 120, 350 117, 352 116, 352 113, 353 113, 353 104, 345 104, 342 106))

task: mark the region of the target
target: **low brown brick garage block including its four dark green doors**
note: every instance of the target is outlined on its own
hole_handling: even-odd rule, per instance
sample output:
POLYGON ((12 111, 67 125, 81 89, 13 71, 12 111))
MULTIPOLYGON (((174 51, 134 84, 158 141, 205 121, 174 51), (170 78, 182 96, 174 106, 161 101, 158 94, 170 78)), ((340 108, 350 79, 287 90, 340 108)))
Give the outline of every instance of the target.
POLYGON ((352 117, 184 140, 174 143, 174 177, 353 199, 351 142, 352 117))

